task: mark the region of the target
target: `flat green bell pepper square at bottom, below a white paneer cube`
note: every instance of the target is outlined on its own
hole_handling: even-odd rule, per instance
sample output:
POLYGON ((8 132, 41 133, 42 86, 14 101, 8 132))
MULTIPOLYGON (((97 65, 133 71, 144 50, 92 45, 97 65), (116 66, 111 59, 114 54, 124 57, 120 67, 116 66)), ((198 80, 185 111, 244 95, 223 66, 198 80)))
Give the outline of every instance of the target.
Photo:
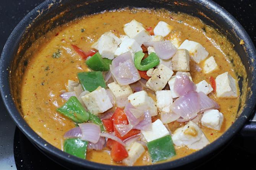
POLYGON ((152 162, 166 160, 176 155, 170 135, 148 142, 147 148, 152 162))

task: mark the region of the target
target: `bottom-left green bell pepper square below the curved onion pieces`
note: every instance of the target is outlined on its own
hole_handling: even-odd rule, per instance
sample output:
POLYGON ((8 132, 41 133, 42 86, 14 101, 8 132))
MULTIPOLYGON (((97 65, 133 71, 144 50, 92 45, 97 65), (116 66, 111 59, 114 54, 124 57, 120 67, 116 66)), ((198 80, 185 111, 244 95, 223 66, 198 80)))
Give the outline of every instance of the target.
POLYGON ((71 138, 64 141, 64 152, 86 159, 88 141, 83 141, 80 138, 71 138))

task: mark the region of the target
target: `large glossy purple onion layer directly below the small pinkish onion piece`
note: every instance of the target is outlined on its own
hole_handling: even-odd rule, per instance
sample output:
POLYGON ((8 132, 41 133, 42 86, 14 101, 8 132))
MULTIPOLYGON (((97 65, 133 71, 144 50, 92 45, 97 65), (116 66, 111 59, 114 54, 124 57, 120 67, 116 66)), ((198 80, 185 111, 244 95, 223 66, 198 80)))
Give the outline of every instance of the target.
POLYGON ((200 111, 199 96, 197 92, 188 92, 172 103, 170 109, 183 119, 190 119, 200 111))

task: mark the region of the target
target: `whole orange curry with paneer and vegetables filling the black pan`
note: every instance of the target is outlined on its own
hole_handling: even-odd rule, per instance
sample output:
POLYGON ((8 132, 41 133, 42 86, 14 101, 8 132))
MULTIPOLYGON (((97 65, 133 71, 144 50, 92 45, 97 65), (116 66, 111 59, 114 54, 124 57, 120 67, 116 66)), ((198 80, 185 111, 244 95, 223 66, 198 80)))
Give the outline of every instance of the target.
POLYGON ((30 50, 24 119, 82 159, 171 161, 209 145, 235 121, 240 91, 229 56, 239 57, 196 17, 105 11, 57 27, 30 50))

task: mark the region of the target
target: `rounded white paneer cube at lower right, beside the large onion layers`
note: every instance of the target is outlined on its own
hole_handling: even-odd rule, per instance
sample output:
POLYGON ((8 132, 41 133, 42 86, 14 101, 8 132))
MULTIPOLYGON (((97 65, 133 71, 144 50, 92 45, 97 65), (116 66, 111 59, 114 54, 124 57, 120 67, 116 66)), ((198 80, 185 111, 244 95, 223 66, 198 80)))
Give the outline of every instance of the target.
POLYGON ((219 110, 207 110, 203 114, 201 124, 211 129, 220 130, 223 119, 223 114, 219 110))

